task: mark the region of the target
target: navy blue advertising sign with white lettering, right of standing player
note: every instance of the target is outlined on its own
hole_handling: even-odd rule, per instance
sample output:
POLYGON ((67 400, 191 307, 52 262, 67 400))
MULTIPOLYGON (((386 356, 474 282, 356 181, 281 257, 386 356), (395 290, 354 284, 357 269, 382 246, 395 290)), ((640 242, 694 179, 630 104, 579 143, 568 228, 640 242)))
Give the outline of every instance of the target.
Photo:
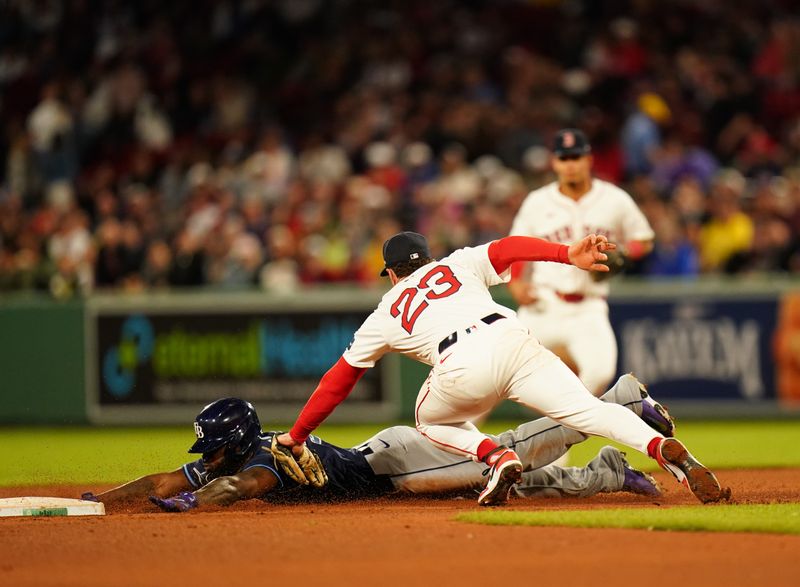
POLYGON ((618 371, 660 400, 775 400, 770 300, 616 302, 618 371))

